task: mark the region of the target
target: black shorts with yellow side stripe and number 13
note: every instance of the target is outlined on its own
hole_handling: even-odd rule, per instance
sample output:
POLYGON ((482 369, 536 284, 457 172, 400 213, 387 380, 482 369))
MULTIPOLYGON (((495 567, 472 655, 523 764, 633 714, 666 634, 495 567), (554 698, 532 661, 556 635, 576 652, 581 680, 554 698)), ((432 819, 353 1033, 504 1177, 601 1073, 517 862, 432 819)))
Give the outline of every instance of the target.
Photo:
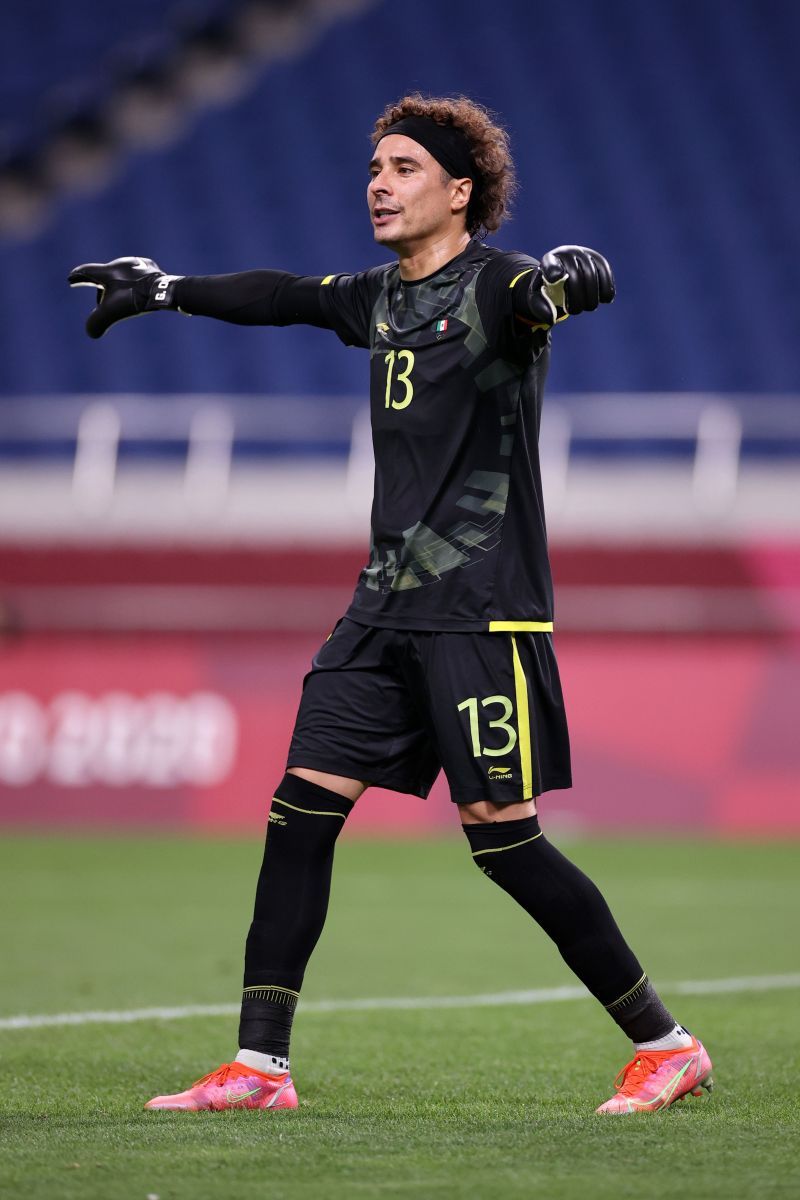
POLYGON ((570 787, 551 634, 377 629, 344 617, 312 662, 289 767, 456 804, 570 787))

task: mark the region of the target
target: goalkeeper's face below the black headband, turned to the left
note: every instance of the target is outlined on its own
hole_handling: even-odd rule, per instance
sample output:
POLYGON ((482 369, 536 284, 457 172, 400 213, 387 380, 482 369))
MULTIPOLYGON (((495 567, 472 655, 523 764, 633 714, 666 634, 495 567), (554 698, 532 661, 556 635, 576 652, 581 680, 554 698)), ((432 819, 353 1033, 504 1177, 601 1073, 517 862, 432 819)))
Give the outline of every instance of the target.
MULTIPOLYGON (((468 199, 469 191, 465 194, 468 199)), ((369 163, 367 187, 375 241, 405 250, 444 236, 453 224, 463 227, 467 206, 462 200, 463 185, 459 190, 419 142, 404 133, 380 139, 369 163)))

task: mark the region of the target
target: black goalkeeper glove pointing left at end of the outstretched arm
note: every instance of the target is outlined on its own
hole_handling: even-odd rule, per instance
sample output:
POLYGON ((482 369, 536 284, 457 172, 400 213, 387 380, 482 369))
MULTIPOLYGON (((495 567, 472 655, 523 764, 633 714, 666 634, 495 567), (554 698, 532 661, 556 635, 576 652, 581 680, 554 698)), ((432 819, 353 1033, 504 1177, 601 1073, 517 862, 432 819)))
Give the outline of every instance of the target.
POLYGON ((90 337, 102 337, 118 320, 158 308, 175 308, 175 283, 180 278, 182 275, 164 275, 151 258, 84 263, 68 275, 71 288, 97 289, 97 305, 86 320, 90 337))

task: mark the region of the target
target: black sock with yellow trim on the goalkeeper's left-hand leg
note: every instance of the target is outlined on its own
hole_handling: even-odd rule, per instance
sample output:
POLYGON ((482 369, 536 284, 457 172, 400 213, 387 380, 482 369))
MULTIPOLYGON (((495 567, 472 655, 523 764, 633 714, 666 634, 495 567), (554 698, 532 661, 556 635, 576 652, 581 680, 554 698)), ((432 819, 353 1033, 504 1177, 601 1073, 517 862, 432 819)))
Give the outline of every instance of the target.
POLYGON ((284 775, 275 793, 245 950, 242 1050, 289 1054, 302 977, 327 913, 333 846, 351 808, 299 775, 284 775))

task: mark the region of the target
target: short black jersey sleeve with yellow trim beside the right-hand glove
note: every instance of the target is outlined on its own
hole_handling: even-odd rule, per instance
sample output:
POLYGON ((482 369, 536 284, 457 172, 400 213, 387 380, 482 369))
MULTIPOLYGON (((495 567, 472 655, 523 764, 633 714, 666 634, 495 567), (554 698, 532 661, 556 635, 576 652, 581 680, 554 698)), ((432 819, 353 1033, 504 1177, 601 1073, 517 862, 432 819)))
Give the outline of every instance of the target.
POLYGON ((504 358, 530 361, 548 344, 549 331, 519 314, 537 266, 539 259, 529 254, 500 253, 477 278, 475 298, 483 329, 504 358))

